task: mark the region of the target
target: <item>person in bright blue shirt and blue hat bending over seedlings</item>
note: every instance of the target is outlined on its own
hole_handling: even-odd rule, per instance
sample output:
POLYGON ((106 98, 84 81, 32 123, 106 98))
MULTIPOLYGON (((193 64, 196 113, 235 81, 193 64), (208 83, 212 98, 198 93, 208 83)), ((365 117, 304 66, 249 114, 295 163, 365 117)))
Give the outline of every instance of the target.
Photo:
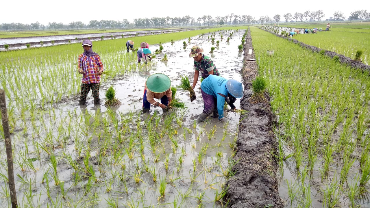
POLYGON ((198 123, 204 121, 212 113, 214 118, 218 117, 218 120, 223 122, 225 121, 225 117, 223 117, 225 100, 232 109, 236 109, 233 103, 236 98, 243 97, 243 85, 239 81, 226 80, 223 77, 210 74, 202 81, 201 92, 204 108, 202 114, 199 115, 198 123))

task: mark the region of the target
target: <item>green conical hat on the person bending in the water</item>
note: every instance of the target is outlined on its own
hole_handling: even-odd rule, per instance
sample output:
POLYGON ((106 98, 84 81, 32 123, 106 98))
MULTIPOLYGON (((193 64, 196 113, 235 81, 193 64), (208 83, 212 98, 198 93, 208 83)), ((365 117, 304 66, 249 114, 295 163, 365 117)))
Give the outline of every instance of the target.
POLYGON ((147 78, 147 88, 153 93, 163 93, 171 87, 171 80, 165 74, 152 74, 147 78))

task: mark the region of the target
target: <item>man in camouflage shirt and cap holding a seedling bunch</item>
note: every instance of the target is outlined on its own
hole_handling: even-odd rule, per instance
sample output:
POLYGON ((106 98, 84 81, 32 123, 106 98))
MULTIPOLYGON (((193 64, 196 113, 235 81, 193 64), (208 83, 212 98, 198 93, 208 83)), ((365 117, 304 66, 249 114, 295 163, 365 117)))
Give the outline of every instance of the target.
POLYGON ((202 74, 202 78, 207 78, 210 74, 220 76, 220 73, 217 70, 216 65, 213 63, 211 58, 204 56, 202 54, 203 48, 199 46, 193 46, 189 54, 190 57, 194 58, 194 80, 193 80, 193 89, 195 88, 196 83, 199 78, 199 71, 202 74))

